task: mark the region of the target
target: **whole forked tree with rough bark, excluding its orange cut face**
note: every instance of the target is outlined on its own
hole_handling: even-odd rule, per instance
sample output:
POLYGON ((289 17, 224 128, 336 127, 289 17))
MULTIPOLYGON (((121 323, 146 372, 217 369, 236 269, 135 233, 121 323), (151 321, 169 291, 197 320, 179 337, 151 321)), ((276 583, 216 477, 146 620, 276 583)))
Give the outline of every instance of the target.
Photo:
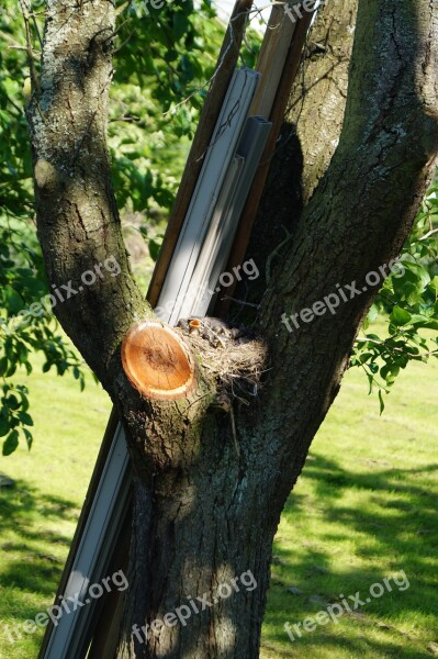
MULTIPOLYGON (((355 10, 353 0, 324 9, 327 43, 314 47, 327 58, 332 25, 352 26, 355 10)), ((71 282, 79 291, 82 273, 96 273, 93 286, 69 294, 56 313, 114 401, 135 467, 119 657, 258 655, 281 510, 378 291, 379 281, 369 275, 382 273, 400 253, 431 176, 438 148, 437 21, 437 9, 426 0, 359 1, 345 115, 339 94, 347 79, 338 93, 334 72, 325 98, 336 101, 336 119, 325 133, 310 127, 305 144, 295 139, 288 148, 282 174, 301 176, 301 211, 254 324, 268 349, 269 371, 256 400, 233 402, 234 435, 205 343, 186 338, 196 362, 195 386, 186 398, 143 398, 126 378, 122 342, 138 317, 153 320, 154 313, 131 273, 105 146, 114 7, 105 0, 77 8, 48 1, 41 75, 27 108, 38 237, 53 284, 71 282), (322 147, 313 157, 316 139, 322 147), (116 277, 101 276, 110 258, 116 277), (346 299, 334 313, 314 305, 340 288, 346 299), (291 321, 289 331, 282 317, 301 322, 291 321), (248 582, 213 602, 213 591, 237 587, 244 574, 257 587, 248 582), (157 623, 147 641, 138 633, 191 602, 200 613, 190 624, 157 623)), ((335 43, 344 43, 340 32, 335 43)), ((346 44, 348 58, 347 37, 346 44)), ((304 109, 306 96, 301 102, 304 109)), ((270 216, 272 208, 288 216, 290 191, 276 194, 273 185, 267 191, 273 199, 270 216)), ((274 234, 265 244, 273 249, 280 242, 283 236, 274 234)))

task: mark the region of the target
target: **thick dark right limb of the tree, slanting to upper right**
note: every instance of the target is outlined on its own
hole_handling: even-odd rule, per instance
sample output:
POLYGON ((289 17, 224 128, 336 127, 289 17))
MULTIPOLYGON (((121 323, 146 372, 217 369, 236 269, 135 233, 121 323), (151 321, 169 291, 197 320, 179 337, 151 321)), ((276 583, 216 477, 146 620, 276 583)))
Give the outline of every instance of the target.
POLYGON ((436 7, 361 0, 339 145, 258 316, 278 372, 263 411, 279 420, 272 442, 289 454, 305 456, 379 288, 366 287, 366 276, 397 255, 422 202, 438 153, 437 64, 436 7), (358 294, 339 299, 333 314, 293 332, 281 323, 352 280, 358 294))

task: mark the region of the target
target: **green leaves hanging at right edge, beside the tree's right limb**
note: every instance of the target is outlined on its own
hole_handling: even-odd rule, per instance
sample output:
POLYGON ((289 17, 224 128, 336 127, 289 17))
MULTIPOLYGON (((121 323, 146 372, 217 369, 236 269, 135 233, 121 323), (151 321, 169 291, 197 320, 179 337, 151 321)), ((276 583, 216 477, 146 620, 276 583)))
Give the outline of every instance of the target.
POLYGON ((438 357, 438 183, 428 190, 403 248, 400 267, 385 280, 372 305, 351 366, 363 368, 370 393, 375 388, 381 412, 401 369, 438 357), (368 333, 370 322, 388 319, 388 336, 368 333), (435 334, 435 335, 434 335, 435 334))

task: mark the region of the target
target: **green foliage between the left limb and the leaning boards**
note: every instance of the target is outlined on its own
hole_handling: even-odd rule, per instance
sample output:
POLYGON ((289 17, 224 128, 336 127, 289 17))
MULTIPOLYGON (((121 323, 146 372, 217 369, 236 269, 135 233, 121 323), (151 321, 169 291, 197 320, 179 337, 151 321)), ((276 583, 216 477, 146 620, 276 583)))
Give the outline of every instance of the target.
POLYGON ((173 203, 223 27, 211 20, 205 0, 196 10, 191 1, 159 10, 125 2, 120 9, 109 130, 112 175, 119 208, 145 211, 150 221, 166 216, 173 203))

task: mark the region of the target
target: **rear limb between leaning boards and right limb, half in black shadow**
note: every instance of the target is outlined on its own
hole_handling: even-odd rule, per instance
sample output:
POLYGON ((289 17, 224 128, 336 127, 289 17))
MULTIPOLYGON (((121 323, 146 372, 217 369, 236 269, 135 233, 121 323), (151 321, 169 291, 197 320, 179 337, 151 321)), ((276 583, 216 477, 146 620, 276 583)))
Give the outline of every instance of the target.
MULTIPOLYGON (((261 277, 249 290, 247 284, 240 284, 238 299, 260 301, 272 266, 283 257, 282 244, 338 145, 357 9, 358 0, 330 0, 308 33, 248 246, 248 255, 256 260, 261 277)), ((232 315, 239 311, 233 309, 232 315)))

